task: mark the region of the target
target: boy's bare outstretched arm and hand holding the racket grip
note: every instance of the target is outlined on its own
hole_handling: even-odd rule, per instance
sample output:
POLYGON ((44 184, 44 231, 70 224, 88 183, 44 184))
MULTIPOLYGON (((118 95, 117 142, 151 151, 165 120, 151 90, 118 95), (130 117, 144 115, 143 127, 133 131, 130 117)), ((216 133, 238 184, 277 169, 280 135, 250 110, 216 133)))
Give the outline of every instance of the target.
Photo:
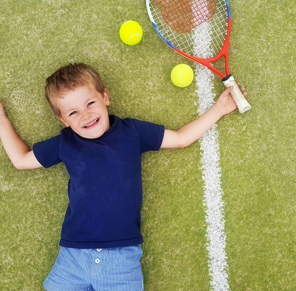
MULTIPOLYGON (((237 83, 239 86, 240 84, 237 83)), ((165 130, 161 148, 182 148, 190 145, 202 137, 223 115, 237 108, 230 92, 233 86, 225 91, 217 99, 216 103, 199 118, 187 123, 178 131, 165 130)), ((240 91, 244 91, 244 87, 240 91)), ((246 96, 246 92, 243 92, 246 96)))

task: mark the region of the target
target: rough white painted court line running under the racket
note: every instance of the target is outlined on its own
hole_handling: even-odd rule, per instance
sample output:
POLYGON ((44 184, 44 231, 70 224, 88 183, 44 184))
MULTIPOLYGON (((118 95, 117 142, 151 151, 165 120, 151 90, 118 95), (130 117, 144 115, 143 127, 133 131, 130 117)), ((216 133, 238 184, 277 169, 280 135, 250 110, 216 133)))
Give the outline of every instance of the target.
MULTIPOLYGON (((202 26, 195 29, 196 41, 199 41, 201 33, 203 38, 208 38, 202 26), (201 32, 203 31, 203 32, 201 32)), ((210 38, 209 38, 210 39, 210 38)), ((211 40, 210 40, 211 41, 211 40)), ((210 44, 209 44, 210 46, 210 44)), ((209 53, 209 52, 208 52, 209 53)), ((205 54, 208 54, 205 52, 205 54)), ((208 68, 196 64, 196 94, 199 97, 199 115, 205 113, 213 106, 215 94, 213 91, 214 73, 208 68)), ((224 233, 224 203, 222 201, 223 190, 220 181, 220 150, 218 142, 217 123, 201 138, 202 170, 204 186, 204 205, 206 206, 207 223, 207 251, 209 252, 209 275, 211 276, 212 291, 228 291, 228 264, 225 253, 226 235, 224 233)))

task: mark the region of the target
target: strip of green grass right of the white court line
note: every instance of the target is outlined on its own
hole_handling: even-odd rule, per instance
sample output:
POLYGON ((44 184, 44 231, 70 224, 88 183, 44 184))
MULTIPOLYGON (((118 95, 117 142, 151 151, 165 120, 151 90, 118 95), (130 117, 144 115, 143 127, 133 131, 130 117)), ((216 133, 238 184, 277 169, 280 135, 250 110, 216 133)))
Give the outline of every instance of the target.
POLYGON ((231 4, 232 68, 253 108, 219 124, 229 283, 295 290, 296 4, 231 4))

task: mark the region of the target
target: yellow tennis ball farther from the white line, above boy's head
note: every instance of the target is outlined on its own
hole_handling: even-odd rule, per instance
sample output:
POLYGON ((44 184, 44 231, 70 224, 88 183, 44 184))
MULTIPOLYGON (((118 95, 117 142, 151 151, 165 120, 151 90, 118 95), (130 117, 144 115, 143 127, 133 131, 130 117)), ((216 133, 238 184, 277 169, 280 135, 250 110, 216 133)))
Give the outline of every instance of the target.
POLYGON ((119 36, 126 45, 134 46, 141 41, 143 31, 137 22, 129 20, 121 25, 119 36))

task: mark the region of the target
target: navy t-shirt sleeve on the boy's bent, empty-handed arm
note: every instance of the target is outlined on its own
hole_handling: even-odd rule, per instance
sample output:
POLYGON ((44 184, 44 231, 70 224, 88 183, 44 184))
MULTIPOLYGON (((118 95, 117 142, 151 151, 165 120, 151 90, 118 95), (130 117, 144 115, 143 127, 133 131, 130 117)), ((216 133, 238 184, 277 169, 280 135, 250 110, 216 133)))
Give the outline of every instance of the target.
POLYGON ((61 135, 58 135, 33 145, 33 153, 44 168, 52 167, 62 161, 59 153, 60 139, 61 135))

